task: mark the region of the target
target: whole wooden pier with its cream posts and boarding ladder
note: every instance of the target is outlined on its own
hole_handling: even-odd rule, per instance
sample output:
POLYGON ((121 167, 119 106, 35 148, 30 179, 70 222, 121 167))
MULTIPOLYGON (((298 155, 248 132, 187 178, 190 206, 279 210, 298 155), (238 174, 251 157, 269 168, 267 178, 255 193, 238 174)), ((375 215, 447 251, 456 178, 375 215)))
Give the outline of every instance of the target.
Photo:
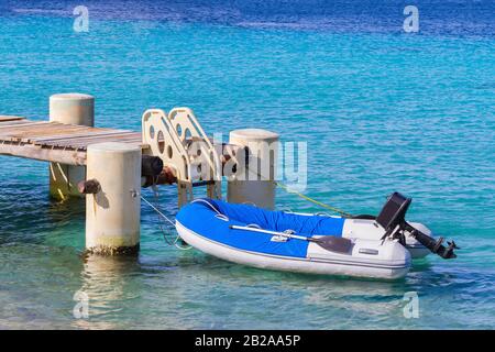
POLYGON ((53 197, 86 197, 89 252, 138 251, 142 187, 174 183, 182 207, 194 199, 194 187, 221 198, 227 176, 231 201, 274 207, 273 178, 244 176, 252 173, 251 164, 267 165, 270 174, 276 174, 275 133, 237 130, 229 143, 215 144, 188 108, 168 113, 148 109, 139 132, 94 125, 95 98, 81 94, 52 96, 50 121, 0 116, 0 155, 50 162, 53 197))

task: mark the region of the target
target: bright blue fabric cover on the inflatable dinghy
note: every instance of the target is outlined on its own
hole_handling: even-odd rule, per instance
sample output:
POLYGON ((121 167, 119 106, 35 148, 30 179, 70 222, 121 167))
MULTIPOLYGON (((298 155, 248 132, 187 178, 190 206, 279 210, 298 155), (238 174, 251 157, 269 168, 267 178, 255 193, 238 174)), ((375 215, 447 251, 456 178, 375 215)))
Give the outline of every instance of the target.
POLYGON ((272 242, 272 234, 234 230, 230 226, 257 224, 270 231, 294 230, 296 234, 304 237, 315 234, 341 237, 345 221, 343 218, 270 211, 216 199, 198 199, 185 206, 176 220, 204 238, 239 250, 292 257, 306 257, 308 241, 290 239, 287 242, 272 242), (219 213, 224 217, 219 217, 219 213))

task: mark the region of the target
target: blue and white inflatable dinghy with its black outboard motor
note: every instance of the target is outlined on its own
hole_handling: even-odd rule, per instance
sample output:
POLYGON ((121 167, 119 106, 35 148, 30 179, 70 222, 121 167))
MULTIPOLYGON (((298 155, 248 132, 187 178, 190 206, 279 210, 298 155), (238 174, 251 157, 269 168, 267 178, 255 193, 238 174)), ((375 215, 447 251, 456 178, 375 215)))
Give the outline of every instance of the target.
POLYGON ((393 279, 407 274, 411 253, 424 256, 436 245, 436 253, 454 257, 453 242, 446 249, 426 227, 404 220, 410 199, 395 195, 375 220, 197 199, 178 212, 176 229, 185 242, 219 258, 299 273, 393 279), (408 202, 397 206, 397 199, 408 202))

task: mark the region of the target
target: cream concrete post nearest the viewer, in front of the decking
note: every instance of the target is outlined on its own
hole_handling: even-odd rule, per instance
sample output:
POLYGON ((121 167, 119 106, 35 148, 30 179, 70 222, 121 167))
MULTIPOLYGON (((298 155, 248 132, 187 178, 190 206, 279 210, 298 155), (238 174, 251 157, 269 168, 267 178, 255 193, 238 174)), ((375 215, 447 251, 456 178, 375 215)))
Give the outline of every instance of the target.
POLYGON ((91 144, 87 177, 100 184, 86 195, 86 249, 98 254, 132 254, 140 245, 141 148, 123 143, 91 144))

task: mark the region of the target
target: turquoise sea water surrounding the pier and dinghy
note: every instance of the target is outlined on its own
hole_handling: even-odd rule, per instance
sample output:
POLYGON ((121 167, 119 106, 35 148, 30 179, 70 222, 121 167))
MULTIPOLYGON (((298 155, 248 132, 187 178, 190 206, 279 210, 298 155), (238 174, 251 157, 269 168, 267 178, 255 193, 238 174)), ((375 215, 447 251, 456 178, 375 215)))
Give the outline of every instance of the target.
MULTIPOLYGON (((493 2, 420 2, 417 34, 400 1, 87 3, 88 33, 74 1, 0 4, 1 114, 46 120, 52 94, 80 91, 100 127, 187 106, 209 133, 266 128, 308 143, 307 195, 376 213, 400 190, 409 219, 462 250, 393 283, 260 271, 167 246, 143 205, 138 260, 85 260, 84 202, 48 199, 45 163, 1 156, 1 329, 495 327, 493 2), (73 317, 78 290, 89 319, 73 317)), ((173 217, 175 188, 161 194, 173 217)), ((321 210, 283 190, 277 205, 321 210)))

